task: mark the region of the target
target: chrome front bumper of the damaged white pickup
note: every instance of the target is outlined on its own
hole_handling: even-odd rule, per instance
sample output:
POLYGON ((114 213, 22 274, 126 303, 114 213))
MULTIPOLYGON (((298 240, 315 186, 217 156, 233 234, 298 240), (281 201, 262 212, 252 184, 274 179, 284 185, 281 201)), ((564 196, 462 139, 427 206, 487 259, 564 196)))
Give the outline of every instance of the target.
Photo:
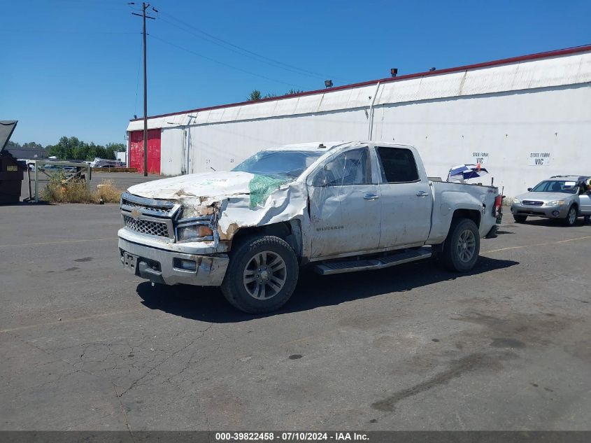
POLYGON ((227 254, 196 255, 168 251, 153 246, 134 243, 119 237, 119 253, 122 263, 124 253, 133 255, 136 263, 129 272, 154 283, 176 285, 178 283, 197 286, 220 286, 224 280, 229 258, 227 254), (181 260, 194 262, 194 269, 181 269, 181 260))

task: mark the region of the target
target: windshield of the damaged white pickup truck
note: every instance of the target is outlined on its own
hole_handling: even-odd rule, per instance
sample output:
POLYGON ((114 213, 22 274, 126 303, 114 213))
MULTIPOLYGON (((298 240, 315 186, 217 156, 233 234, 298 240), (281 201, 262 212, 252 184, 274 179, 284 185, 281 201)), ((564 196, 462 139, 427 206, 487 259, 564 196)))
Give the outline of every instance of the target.
POLYGON ((322 154, 323 151, 311 150, 262 150, 248 157, 232 171, 295 180, 322 154))

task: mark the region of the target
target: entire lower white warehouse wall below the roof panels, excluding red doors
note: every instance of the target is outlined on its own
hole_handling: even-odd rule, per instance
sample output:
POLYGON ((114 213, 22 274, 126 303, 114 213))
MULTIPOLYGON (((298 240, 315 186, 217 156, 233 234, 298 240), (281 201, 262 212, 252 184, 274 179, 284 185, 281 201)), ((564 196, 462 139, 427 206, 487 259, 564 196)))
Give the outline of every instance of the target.
MULTIPOLYGON (((483 183, 494 178, 506 195, 517 195, 551 175, 591 175, 590 103, 591 85, 585 84, 380 105, 374 108, 373 140, 415 146, 427 174, 443 179, 455 164, 480 161, 490 171, 483 183), (536 165, 532 153, 550 157, 536 165)), ((189 172, 220 171, 270 146, 367 139, 369 117, 362 108, 199 125, 188 131, 189 172)), ((162 134, 168 146, 163 153, 176 153, 163 160, 162 173, 180 174, 183 129, 162 134)))

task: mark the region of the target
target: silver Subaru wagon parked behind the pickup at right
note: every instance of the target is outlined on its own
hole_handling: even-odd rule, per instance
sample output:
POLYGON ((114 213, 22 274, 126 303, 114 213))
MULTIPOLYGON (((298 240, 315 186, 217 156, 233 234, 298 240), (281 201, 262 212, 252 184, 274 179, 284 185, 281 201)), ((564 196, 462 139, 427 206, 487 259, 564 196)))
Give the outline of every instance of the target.
POLYGON ((558 218, 572 226, 577 217, 591 214, 591 192, 586 185, 588 176, 553 176, 528 188, 511 204, 517 223, 529 216, 558 218))

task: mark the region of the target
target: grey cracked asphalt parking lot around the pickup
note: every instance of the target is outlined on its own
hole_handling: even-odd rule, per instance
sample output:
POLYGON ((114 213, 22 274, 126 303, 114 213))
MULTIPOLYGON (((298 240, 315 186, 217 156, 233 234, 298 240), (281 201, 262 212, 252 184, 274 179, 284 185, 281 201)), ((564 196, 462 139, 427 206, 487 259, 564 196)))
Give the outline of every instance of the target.
POLYGON ((591 430, 591 225, 507 213, 470 274, 304 272, 248 316, 124 272, 115 205, 0 206, 0 429, 591 430))

